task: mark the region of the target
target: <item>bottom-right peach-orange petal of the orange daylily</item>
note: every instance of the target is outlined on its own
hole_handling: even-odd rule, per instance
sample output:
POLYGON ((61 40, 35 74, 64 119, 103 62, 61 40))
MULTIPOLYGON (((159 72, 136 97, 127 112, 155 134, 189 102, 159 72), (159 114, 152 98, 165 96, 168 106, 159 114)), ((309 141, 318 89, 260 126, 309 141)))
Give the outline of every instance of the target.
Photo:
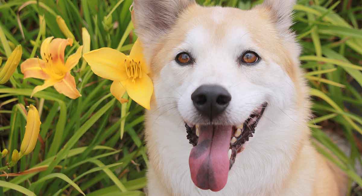
POLYGON ((71 99, 76 99, 76 98, 82 96, 79 93, 79 91, 77 90, 77 87, 75 84, 75 79, 70 74, 70 72, 66 73, 66 76, 63 78, 63 80, 56 83, 54 85, 54 88, 59 93, 62 93, 71 99))

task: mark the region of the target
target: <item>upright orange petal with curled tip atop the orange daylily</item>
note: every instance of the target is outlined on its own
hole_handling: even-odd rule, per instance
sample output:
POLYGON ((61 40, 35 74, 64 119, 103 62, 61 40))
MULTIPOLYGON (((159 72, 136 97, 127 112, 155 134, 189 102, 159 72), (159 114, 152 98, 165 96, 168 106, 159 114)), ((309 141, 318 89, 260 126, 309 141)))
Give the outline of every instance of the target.
POLYGON ((50 42, 48 52, 51 55, 54 64, 60 62, 64 65, 64 50, 66 50, 68 45, 73 45, 73 39, 55 38, 50 42))

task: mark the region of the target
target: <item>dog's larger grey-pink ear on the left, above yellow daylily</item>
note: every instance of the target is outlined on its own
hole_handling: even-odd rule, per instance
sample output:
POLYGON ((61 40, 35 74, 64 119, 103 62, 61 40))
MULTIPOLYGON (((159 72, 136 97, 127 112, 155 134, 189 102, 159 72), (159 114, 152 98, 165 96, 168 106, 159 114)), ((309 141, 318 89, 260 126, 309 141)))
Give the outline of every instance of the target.
POLYGON ((177 17, 195 0, 134 0, 132 21, 142 43, 148 45, 166 34, 177 17))

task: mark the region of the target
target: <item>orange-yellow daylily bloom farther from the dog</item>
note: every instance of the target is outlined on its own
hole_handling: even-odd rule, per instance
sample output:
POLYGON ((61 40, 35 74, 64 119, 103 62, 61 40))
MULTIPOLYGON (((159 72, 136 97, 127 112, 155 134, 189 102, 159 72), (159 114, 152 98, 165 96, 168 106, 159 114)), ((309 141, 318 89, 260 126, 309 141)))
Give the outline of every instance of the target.
POLYGON ((66 63, 64 63, 64 50, 68 45, 72 46, 72 44, 73 39, 69 38, 46 38, 40 47, 42 59, 31 58, 21 64, 21 72, 24 73, 24 79, 39 78, 45 80, 43 85, 34 88, 31 97, 50 86, 54 86, 59 93, 71 99, 81 96, 70 71, 78 64, 83 46, 80 46, 75 54, 70 55, 66 63))

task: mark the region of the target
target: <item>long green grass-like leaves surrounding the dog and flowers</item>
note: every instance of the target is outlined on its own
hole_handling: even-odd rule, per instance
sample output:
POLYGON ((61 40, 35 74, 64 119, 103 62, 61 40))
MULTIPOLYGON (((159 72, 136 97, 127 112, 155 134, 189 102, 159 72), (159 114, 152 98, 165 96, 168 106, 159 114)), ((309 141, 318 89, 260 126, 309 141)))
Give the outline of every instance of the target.
MULTIPOLYGON (((250 9, 262 0, 197 0, 201 5, 223 5, 250 9)), ((91 39, 90 50, 101 47, 128 52, 132 33, 132 0, 0 0, 0 58, 3 65, 14 46, 21 44, 22 61, 40 56, 41 42, 50 36, 65 38, 56 22, 61 16, 76 44, 66 57, 82 45, 82 27, 91 39), (28 3, 28 4, 25 4, 28 3), (26 5, 25 7, 23 5, 26 5), (45 17, 42 35, 39 15, 45 17), (79 44, 78 44, 79 43, 79 44)), ((352 181, 362 186, 354 165, 361 162, 358 146, 362 133, 362 4, 358 0, 299 0, 295 6, 300 58, 314 101, 312 135, 325 148, 317 149, 338 165, 352 181), (343 153, 322 130, 331 130, 349 141, 351 153, 343 153)), ((41 80, 23 80, 20 66, 6 85, 0 85, 1 149, 19 149, 26 119, 16 103, 33 104, 41 114, 43 141, 1 177, 0 195, 144 195, 148 164, 143 136, 143 109, 134 102, 122 104, 110 94, 111 81, 97 77, 83 60, 73 69, 82 97, 72 100, 47 88, 30 98, 41 80), (84 64, 84 63, 83 63, 84 64), (122 126, 121 126, 122 125, 122 126), (121 128, 120 128, 121 127, 121 128), (120 140, 121 131, 125 134, 120 140), (116 150, 119 149, 119 150, 116 150), (42 167, 42 168, 43 168, 42 167), (71 180, 73 182, 71 182, 71 180)), ((9 155, 10 154, 10 155, 9 155)), ((9 162, 9 153, 2 163, 9 162)), ((10 158, 11 159, 11 158, 10 158)), ((1 166, 1 165, 0 165, 1 166)))

